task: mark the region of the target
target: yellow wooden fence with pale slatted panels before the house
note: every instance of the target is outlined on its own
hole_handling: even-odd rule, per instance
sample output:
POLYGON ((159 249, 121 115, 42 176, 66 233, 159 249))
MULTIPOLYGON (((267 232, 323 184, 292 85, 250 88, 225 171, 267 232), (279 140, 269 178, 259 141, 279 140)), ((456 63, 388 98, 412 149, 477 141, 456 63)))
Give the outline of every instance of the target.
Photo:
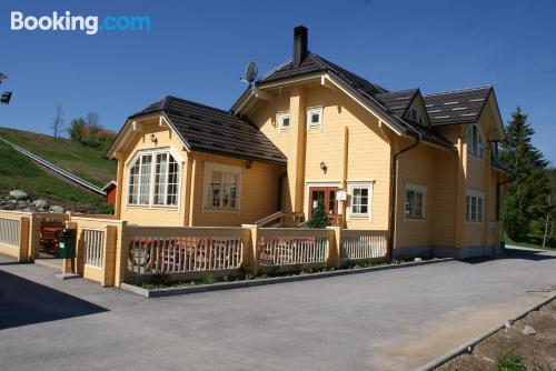
POLYGON ((0 252, 20 261, 38 254, 40 223, 64 221, 76 230, 75 261, 62 271, 119 287, 152 274, 171 280, 239 275, 268 270, 340 267, 386 259, 386 231, 307 228, 139 227, 106 215, 0 211, 0 252))

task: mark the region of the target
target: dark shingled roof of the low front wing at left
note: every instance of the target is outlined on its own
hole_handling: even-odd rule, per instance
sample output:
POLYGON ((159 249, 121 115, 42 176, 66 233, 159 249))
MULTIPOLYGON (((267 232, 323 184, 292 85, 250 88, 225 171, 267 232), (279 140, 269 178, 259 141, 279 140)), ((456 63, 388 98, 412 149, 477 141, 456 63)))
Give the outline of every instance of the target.
POLYGON ((163 112, 193 151, 287 163, 286 156, 257 127, 228 111, 168 96, 130 118, 155 112, 163 112))

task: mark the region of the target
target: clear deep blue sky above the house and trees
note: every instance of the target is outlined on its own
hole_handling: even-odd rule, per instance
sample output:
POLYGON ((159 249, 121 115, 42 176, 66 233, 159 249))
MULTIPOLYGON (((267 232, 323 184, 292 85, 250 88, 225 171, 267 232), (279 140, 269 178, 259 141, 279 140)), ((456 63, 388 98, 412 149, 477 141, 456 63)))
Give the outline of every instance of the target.
POLYGON ((0 72, 13 91, 0 127, 52 133, 99 113, 119 130, 126 118, 172 94, 229 109, 259 74, 287 61, 292 29, 309 50, 388 90, 436 92, 494 84, 505 122, 529 114, 533 143, 556 166, 555 1, 12 1, 0 2, 0 72), (12 31, 10 13, 147 16, 143 31, 12 31))

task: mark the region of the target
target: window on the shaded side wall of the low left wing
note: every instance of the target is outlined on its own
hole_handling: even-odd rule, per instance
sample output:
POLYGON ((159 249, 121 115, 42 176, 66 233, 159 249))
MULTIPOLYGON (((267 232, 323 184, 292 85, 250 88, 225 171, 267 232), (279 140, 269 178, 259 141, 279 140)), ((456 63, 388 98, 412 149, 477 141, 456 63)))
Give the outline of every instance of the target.
POLYGON ((238 211, 241 168, 207 162, 205 166, 205 209, 238 211))

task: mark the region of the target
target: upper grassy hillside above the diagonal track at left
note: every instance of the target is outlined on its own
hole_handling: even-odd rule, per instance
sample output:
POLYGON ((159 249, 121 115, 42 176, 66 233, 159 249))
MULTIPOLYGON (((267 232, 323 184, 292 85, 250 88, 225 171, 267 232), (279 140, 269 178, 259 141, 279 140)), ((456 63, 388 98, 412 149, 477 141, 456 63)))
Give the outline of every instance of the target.
POLYGON ((0 128, 0 137, 96 186, 103 187, 116 179, 116 163, 106 160, 105 153, 98 149, 69 139, 7 128, 0 128))

